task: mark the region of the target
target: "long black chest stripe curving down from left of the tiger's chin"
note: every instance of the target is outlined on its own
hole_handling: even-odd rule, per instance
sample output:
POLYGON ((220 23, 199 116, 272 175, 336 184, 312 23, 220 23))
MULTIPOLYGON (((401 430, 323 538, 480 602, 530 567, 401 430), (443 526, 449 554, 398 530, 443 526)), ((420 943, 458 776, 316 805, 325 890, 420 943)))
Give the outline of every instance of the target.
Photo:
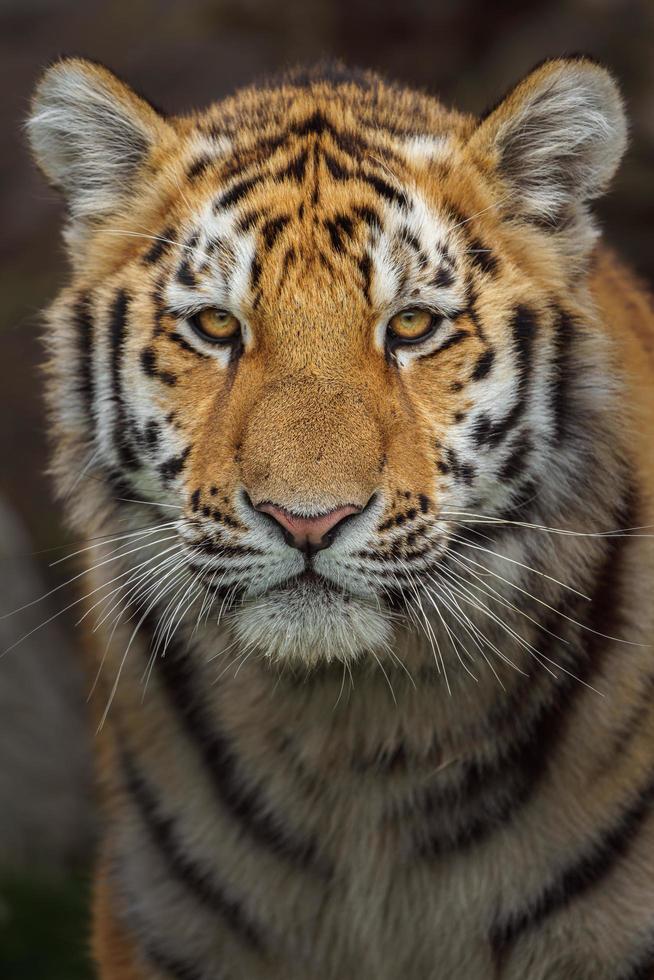
MULTIPOLYGON (((146 628, 154 635, 156 622, 148 622, 146 628)), ((171 642, 165 657, 157 657, 156 666, 181 724, 204 760, 223 807, 244 831, 274 854, 328 876, 329 869, 319 856, 316 842, 294 835, 279 816, 269 812, 260 787, 247 784, 241 776, 231 741, 207 717, 194 682, 190 657, 179 640, 171 642)))

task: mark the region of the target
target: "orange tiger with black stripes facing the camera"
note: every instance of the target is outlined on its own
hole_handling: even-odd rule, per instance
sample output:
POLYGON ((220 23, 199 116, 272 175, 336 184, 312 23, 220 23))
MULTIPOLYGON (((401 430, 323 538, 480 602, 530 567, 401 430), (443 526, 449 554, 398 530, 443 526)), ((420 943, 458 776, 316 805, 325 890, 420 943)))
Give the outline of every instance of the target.
POLYGON ((473 116, 323 64, 168 116, 64 58, 27 131, 67 215, 98 976, 653 978, 654 315, 592 211, 611 73, 473 116))

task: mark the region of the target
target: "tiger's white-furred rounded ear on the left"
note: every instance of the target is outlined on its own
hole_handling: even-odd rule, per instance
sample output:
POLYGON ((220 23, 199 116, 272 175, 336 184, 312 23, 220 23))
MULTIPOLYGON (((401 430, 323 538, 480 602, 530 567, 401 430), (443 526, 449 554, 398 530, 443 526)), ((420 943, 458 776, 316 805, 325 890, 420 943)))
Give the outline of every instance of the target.
POLYGON ((142 178, 152 149, 171 133, 148 102, 82 58, 46 70, 27 130, 39 167, 62 191, 73 220, 116 210, 142 178))

